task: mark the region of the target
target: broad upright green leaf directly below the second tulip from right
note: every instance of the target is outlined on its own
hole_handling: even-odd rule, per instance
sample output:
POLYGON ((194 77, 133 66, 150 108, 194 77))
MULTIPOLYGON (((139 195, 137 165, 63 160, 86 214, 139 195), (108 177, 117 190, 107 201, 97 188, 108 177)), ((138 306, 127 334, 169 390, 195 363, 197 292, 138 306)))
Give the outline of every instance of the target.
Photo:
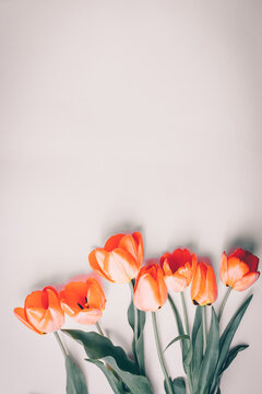
POLYGON ((198 394, 206 393, 213 382, 213 375, 219 356, 219 324, 212 306, 212 320, 206 349, 199 373, 198 394))

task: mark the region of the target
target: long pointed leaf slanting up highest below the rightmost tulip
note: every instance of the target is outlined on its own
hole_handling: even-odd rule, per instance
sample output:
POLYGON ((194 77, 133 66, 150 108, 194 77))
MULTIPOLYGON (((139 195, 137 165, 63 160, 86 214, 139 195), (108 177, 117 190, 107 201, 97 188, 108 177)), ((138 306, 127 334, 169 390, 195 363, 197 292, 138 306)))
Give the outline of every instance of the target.
POLYGON ((218 358, 218 362, 216 366, 216 370, 214 373, 214 379, 213 379, 213 384, 211 387, 211 392, 212 390, 214 391, 215 386, 217 385, 217 380, 219 376, 219 371, 222 370, 223 366, 225 364, 227 355, 228 355, 228 350, 229 347, 231 345, 234 335, 243 317, 245 312, 247 311, 251 300, 252 300, 253 294, 249 296, 249 298, 247 300, 243 301, 243 303, 240 305, 240 308, 237 310, 237 312, 235 313, 235 315, 231 317, 230 322, 228 323, 228 325, 226 326, 221 340, 219 340, 219 358, 218 358))

